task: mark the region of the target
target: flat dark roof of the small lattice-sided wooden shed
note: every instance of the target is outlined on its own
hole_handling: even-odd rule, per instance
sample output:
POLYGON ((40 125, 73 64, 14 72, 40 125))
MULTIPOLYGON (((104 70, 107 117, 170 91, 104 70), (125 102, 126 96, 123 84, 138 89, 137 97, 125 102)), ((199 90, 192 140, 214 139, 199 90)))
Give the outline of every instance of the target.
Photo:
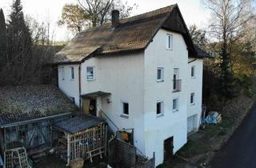
POLYGON ((74 118, 68 118, 62 122, 55 123, 54 127, 66 133, 75 134, 82 130, 98 126, 102 122, 105 122, 102 118, 90 115, 78 115, 74 118))

